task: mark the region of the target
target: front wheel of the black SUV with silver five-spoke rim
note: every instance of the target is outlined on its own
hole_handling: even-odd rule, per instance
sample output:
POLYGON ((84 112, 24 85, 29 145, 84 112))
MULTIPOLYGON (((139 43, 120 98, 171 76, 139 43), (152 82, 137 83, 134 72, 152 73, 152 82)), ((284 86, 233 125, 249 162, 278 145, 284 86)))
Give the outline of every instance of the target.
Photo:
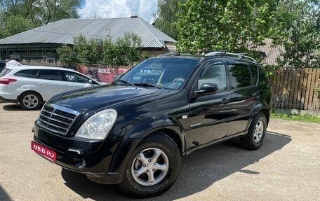
POLYGON ((120 187, 135 197, 160 195, 175 183, 180 167, 175 141, 164 133, 152 134, 133 151, 120 187))

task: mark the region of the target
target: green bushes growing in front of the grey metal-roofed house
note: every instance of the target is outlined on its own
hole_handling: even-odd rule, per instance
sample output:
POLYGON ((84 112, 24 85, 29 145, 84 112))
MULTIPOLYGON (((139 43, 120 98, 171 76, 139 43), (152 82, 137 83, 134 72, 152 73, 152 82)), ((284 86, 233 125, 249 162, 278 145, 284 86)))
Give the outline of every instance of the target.
POLYGON ((125 34, 123 39, 118 39, 115 43, 77 36, 74 38, 74 46, 58 48, 58 55, 60 61, 68 65, 133 65, 140 59, 140 46, 140 37, 131 33, 125 34))

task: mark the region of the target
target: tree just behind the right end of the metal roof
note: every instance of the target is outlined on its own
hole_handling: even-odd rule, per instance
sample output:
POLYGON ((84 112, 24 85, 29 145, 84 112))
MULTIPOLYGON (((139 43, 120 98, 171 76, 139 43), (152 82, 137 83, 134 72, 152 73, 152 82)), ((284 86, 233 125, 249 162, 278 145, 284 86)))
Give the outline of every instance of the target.
POLYGON ((166 33, 171 38, 177 40, 177 11, 179 2, 185 0, 158 0, 158 10, 154 15, 154 26, 161 32, 166 33))

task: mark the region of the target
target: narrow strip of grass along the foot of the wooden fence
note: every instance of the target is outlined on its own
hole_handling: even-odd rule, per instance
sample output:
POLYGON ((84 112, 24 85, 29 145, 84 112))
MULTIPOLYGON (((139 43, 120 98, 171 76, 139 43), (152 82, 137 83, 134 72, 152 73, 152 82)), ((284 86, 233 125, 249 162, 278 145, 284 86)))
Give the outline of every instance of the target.
POLYGON ((279 118, 284 120, 296 120, 309 123, 320 123, 320 117, 312 116, 311 114, 300 115, 298 113, 286 114, 286 113, 271 113, 271 118, 279 118))

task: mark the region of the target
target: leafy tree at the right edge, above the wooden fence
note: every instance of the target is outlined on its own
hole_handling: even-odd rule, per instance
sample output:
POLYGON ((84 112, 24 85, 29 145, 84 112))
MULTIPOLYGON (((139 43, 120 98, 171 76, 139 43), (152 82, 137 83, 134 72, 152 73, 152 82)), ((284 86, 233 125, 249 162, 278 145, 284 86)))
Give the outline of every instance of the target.
POLYGON ((280 4, 277 26, 282 33, 275 32, 274 39, 284 47, 278 60, 281 67, 320 67, 319 6, 319 1, 286 0, 280 4))

